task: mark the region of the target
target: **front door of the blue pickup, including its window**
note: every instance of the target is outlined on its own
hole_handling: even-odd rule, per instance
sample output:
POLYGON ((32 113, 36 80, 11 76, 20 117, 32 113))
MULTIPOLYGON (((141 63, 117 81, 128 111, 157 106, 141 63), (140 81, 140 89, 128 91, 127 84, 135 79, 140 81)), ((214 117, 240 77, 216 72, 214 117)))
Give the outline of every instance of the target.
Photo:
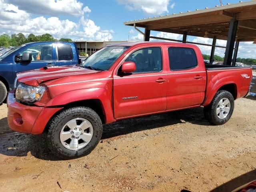
POLYGON ((13 65, 13 77, 16 78, 16 74, 22 71, 28 71, 32 69, 38 69, 44 66, 55 66, 55 47, 54 44, 38 44, 32 45, 25 50, 22 50, 19 55, 22 56, 24 52, 32 54, 31 62, 14 62, 13 65))

